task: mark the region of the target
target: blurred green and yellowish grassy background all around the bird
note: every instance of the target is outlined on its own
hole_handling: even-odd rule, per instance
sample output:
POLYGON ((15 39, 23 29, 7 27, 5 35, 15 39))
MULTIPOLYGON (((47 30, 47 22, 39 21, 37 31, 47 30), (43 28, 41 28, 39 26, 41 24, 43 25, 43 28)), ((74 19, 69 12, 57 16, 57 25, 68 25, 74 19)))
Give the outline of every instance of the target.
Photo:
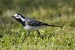
POLYGON ((0 0, 0 50, 75 50, 75 0, 0 0), (27 31, 11 16, 23 16, 63 28, 47 27, 26 37, 27 31))

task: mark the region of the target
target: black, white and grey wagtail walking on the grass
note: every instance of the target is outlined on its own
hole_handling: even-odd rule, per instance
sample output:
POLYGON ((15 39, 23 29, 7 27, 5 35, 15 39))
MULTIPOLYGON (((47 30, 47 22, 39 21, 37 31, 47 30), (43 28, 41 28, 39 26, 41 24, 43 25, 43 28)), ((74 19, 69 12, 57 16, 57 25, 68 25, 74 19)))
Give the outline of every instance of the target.
POLYGON ((24 26, 24 28, 28 30, 28 35, 30 34, 31 30, 36 30, 40 35, 38 29, 45 26, 61 27, 61 26, 46 24, 28 17, 24 17, 21 14, 15 14, 12 17, 14 17, 17 21, 19 21, 24 26))

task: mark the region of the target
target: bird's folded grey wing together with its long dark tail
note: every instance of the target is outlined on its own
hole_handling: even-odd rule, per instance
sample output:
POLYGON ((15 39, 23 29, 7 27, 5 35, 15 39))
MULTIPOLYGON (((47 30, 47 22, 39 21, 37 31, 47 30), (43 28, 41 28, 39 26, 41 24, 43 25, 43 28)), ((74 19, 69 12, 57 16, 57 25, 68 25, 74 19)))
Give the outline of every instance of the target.
POLYGON ((33 20, 31 18, 26 18, 26 23, 30 26, 52 26, 52 27, 62 27, 62 26, 57 26, 57 25, 53 25, 53 24, 47 24, 47 23, 43 23, 37 20, 33 20))

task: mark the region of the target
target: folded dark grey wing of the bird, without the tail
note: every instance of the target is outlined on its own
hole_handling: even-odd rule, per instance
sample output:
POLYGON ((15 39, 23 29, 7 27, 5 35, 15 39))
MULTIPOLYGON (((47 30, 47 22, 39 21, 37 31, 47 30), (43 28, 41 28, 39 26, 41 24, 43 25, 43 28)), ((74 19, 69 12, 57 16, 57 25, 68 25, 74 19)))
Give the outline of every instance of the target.
POLYGON ((30 19, 30 18, 26 19, 26 22, 30 26, 43 26, 43 25, 48 25, 46 23, 43 23, 43 22, 40 22, 40 21, 37 21, 37 20, 33 20, 33 19, 30 19))

